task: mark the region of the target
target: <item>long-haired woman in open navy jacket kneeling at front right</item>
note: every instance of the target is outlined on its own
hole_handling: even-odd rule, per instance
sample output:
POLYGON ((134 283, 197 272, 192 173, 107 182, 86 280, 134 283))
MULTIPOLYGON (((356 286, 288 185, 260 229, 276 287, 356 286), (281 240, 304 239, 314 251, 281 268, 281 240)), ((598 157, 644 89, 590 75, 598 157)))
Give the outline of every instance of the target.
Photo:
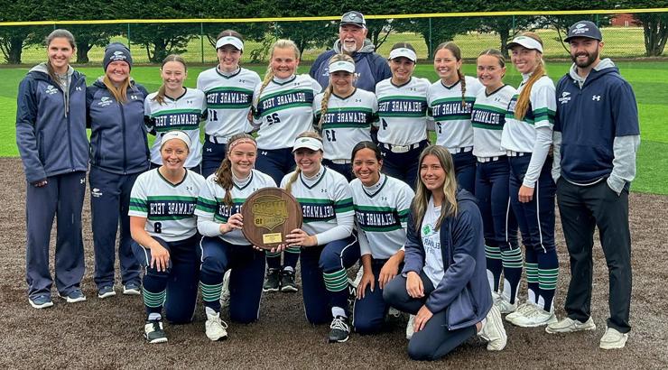
POLYGON ((506 347, 506 330, 485 271, 482 219, 476 199, 457 189, 450 152, 431 145, 420 154, 404 271, 383 291, 385 301, 415 315, 408 355, 435 360, 478 334, 487 350, 506 347))

